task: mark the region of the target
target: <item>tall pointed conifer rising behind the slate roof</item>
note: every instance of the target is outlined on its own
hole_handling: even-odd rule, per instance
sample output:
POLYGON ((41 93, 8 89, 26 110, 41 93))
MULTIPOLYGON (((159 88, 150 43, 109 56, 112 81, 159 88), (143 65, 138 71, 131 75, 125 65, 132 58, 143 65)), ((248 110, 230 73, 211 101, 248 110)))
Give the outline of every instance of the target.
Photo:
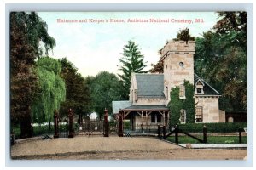
POLYGON ((119 74, 121 82, 123 83, 122 99, 129 99, 129 91, 131 84, 131 73, 146 73, 143 69, 147 66, 144 64, 144 56, 138 49, 138 45, 135 42, 128 41, 128 44, 123 48, 123 57, 119 59, 121 65, 119 70, 123 74, 119 74))

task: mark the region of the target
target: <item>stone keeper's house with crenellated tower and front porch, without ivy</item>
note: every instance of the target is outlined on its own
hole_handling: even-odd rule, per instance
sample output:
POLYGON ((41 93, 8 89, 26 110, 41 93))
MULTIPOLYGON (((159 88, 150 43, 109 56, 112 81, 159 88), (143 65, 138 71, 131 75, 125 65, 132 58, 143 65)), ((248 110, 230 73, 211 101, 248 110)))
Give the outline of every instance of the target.
MULTIPOLYGON (((113 101, 113 113, 122 113, 130 120, 131 130, 157 128, 168 125, 172 111, 167 108, 170 90, 179 86, 179 97, 186 98, 184 80, 195 86, 195 122, 225 122, 224 111, 218 109, 221 96, 201 77, 194 73, 195 42, 166 42, 160 50, 164 64, 163 74, 138 74, 131 76, 129 101, 113 101)), ((171 101, 172 102, 172 101, 171 101)), ((180 122, 186 122, 186 111, 181 111, 180 122)))

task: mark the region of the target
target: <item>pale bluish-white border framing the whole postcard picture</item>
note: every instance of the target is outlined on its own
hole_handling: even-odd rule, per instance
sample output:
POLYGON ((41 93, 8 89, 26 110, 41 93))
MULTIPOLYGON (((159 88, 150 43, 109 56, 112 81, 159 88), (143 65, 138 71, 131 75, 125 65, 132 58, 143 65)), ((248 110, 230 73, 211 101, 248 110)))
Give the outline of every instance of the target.
MULTIPOLYGON (((13 1, 3 1, 4 5, 6 3, 20 3, 18 0, 13 1)), ((45 1, 43 1, 45 2, 45 1)), ((113 3, 119 3, 119 1, 111 1, 113 3)), ((128 1, 124 1, 128 2, 128 1)), ((137 1, 141 3, 141 1, 137 1)), ((137 3, 136 2, 136 3, 137 3)), ((203 1, 201 1, 203 2, 203 1)), ((159 4, 159 3, 166 3, 166 1, 159 0, 157 1, 157 4, 96 4, 96 3, 105 3, 105 1, 93 1, 95 4, 73 4, 73 3, 84 3, 84 1, 76 1, 73 0, 72 4, 39 4, 42 2, 39 2, 37 4, 24 4, 24 3, 35 3, 33 1, 23 1, 21 4, 7 4, 7 6, 3 7, 1 6, 1 21, 5 23, 5 28, 3 28, 3 31, 1 30, 1 37, 5 37, 5 40, 2 38, 1 44, 5 43, 4 46, 1 47, 3 50, 0 50, 2 59, 1 60, 1 68, 3 71, 1 71, 1 77, 5 76, 5 88, 1 88, 1 93, 5 94, 5 105, 1 107, 1 113, 5 112, 5 121, 4 119, 1 119, 1 126, 4 125, 6 127, 6 130, 3 131, 1 128, 2 134, 5 134, 5 137, 8 137, 7 134, 9 134, 9 11, 10 10, 35 10, 35 11, 81 11, 84 9, 90 10, 90 11, 217 11, 217 10, 247 10, 248 14, 248 59, 247 59, 247 90, 248 90, 248 160, 247 161, 11 161, 9 160, 9 138, 5 138, 5 144, 3 144, 2 149, 5 149, 5 162, 3 161, 3 164, 5 163, 5 166, 29 166, 29 167, 38 167, 38 166, 64 166, 64 167, 77 167, 77 166, 183 166, 183 167, 196 167, 196 166, 223 166, 223 167, 240 167, 240 166, 252 166, 253 160, 252 160, 252 150, 253 150, 253 144, 252 144, 252 137, 253 137, 253 4, 235 4, 235 3, 241 3, 240 1, 233 0, 232 4, 224 4, 225 1, 218 1, 217 4, 184 4, 182 1, 178 2, 180 4, 159 4), (4 16, 5 11, 5 18, 4 16), (5 30, 6 31, 5 31, 5 30), (3 64, 5 64, 3 66, 3 64), (5 107, 4 107, 5 106, 5 107), (6 122, 6 124, 5 124, 6 122)), ((253 1, 249 1, 253 2, 253 1)), ((56 3, 56 1, 49 1, 48 3, 56 3)), ((67 3, 66 0, 61 1, 61 3, 67 3)), ((69 2, 70 3, 70 2, 69 2)), ((92 3, 92 1, 90 1, 92 3)), ((129 1, 131 3, 131 1, 129 1)), ((135 2, 133 2, 135 3, 135 2)), ((246 1, 243 1, 243 3, 246 3, 246 1)), ((2 95, 3 96, 3 95, 2 95)), ((2 100, 1 100, 2 101, 2 100)), ((3 103, 3 101, 1 102, 3 103)), ((1 138, 3 139, 3 138, 1 138)), ((2 144, 1 144, 2 146, 2 144)), ((2 152, 3 153, 3 152, 2 152)), ((1 160, 2 161, 2 160, 1 160)), ((1 163, 2 164, 2 163, 1 163)), ((3 165, 2 164, 2 165, 3 165)), ((177 168, 177 167, 175 167, 177 168)), ((244 167, 242 167, 244 168, 244 167)))

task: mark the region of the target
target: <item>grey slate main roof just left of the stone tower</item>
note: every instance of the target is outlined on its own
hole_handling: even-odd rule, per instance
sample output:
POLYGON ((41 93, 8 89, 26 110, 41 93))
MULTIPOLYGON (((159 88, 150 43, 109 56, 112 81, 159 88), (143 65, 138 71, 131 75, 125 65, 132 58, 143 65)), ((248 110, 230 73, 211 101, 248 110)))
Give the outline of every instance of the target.
POLYGON ((135 74, 138 99, 165 99, 163 74, 135 74))

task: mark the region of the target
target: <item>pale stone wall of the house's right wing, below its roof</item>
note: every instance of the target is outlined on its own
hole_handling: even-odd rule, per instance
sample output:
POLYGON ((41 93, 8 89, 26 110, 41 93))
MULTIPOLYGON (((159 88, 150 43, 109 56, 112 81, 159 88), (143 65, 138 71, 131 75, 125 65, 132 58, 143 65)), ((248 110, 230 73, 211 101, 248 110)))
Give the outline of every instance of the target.
POLYGON ((218 110, 218 97, 195 96, 195 106, 201 106, 203 111, 203 122, 220 122, 218 110))

